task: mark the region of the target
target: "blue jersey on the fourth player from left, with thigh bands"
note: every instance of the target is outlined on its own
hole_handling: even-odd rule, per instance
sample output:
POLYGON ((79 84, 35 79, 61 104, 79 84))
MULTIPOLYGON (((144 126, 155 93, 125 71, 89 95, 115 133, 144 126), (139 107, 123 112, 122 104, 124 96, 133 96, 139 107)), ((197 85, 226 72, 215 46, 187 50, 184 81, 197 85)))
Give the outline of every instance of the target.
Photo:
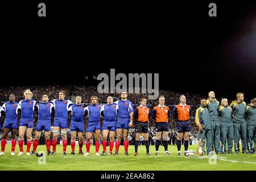
POLYGON ((55 109, 55 118, 67 118, 68 107, 73 105, 73 102, 69 100, 52 100, 55 109))

